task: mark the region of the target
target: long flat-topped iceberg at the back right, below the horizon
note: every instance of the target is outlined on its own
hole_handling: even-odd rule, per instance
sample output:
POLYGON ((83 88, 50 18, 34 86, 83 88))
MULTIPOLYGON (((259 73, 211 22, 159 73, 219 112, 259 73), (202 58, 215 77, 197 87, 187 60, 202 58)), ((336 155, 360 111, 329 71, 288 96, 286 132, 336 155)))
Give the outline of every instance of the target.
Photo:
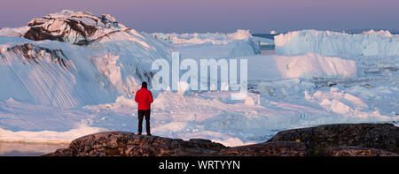
POLYGON ((275 36, 276 54, 324 56, 399 56, 399 36, 388 31, 345 34, 332 31, 301 30, 275 36))

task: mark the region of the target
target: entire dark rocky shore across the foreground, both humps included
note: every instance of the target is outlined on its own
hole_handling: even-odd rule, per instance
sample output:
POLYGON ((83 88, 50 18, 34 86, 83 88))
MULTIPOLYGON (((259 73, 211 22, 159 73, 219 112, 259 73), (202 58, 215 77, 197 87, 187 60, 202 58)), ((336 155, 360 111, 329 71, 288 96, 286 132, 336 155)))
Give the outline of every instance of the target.
POLYGON ((398 132, 389 124, 320 125, 278 132, 267 142, 233 148, 202 139, 100 132, 47 156, 397 156, 398 132))

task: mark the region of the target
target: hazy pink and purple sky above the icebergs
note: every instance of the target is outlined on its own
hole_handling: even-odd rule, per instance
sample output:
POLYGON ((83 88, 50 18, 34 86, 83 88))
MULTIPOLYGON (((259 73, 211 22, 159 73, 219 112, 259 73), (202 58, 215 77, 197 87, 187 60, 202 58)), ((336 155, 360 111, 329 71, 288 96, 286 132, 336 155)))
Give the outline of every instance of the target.
POLYGON ((109 13, 145 32, 399 29, 398 0, 2 0, 0 27, 63 9, 109 13))

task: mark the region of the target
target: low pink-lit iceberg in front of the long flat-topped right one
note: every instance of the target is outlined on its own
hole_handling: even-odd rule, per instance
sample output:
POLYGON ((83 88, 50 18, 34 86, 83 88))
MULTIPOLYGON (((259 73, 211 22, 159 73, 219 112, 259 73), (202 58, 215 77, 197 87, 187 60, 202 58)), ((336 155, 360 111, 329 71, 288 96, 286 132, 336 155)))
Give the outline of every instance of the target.
POLYGON ((317 53, 302 56, 262 55, 248 58, 248 79, 349 78, 356 76, 356 62, 317 53))

